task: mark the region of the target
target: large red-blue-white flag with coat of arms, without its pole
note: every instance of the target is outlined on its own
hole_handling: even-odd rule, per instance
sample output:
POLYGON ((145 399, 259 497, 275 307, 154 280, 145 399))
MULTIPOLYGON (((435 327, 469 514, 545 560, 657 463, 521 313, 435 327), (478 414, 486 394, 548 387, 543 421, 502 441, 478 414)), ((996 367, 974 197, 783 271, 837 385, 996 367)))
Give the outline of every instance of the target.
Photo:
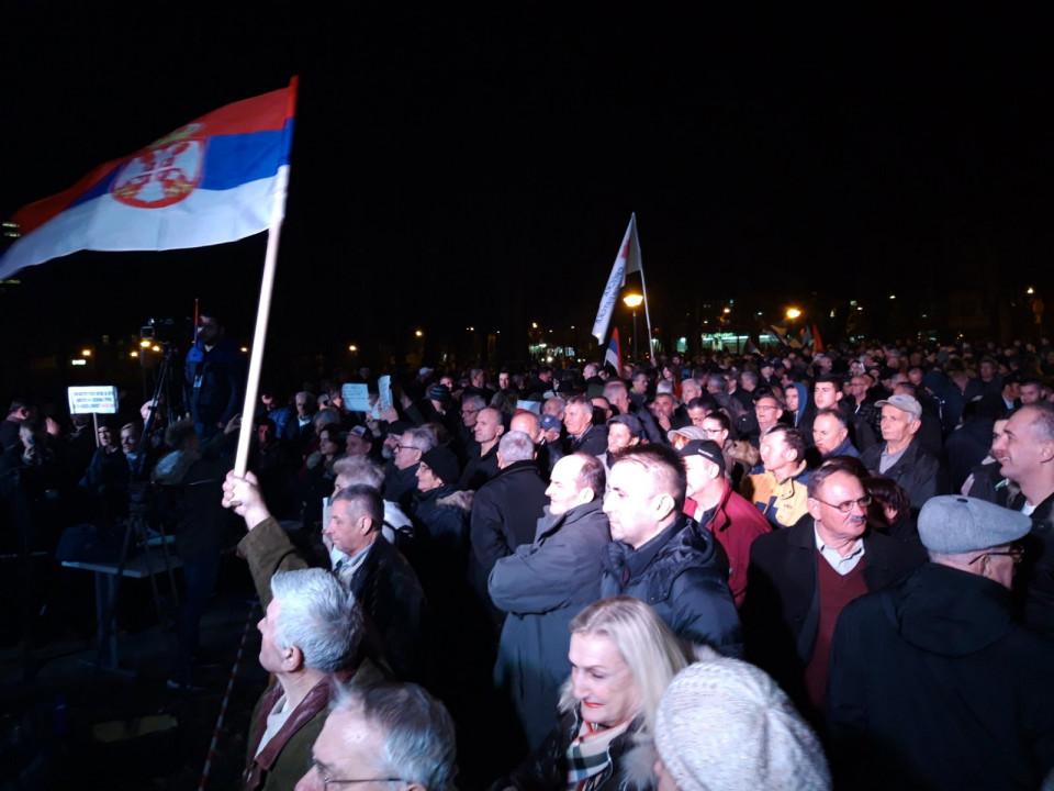
POLYGON ((77 250, 204 247, 266 231, 284 207, 295 96, 293 78, 227 104, 19 210, 0 279, 77 250))

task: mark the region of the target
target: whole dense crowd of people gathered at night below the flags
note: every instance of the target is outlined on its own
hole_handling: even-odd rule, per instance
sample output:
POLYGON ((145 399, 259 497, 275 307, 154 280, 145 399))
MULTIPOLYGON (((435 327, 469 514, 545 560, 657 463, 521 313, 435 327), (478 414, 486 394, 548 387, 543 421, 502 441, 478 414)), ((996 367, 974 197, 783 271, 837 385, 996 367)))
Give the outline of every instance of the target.
POLYGON ((238 525, 271 676, 246 789, 1054 782, 1045 343, 422 367, 391 404, 363 370, 370 412, 267 385, 245 476, 222 344, 191 417, 96 447, 19 399, 0 464, 23 544, 119 523, 145 470, 176 684, 238 525))

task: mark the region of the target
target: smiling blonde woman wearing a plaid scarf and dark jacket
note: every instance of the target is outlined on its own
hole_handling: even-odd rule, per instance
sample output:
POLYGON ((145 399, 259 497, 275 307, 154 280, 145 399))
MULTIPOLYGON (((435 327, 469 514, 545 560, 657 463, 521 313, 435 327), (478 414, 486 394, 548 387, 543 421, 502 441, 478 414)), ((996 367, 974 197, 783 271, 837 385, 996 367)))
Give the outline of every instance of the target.
POLYGON ((538 751, 497 789, 647 791, 655 711, 689 657, 643 602, 602 599, 571 622, 571 678, 560 722, 538 751))

